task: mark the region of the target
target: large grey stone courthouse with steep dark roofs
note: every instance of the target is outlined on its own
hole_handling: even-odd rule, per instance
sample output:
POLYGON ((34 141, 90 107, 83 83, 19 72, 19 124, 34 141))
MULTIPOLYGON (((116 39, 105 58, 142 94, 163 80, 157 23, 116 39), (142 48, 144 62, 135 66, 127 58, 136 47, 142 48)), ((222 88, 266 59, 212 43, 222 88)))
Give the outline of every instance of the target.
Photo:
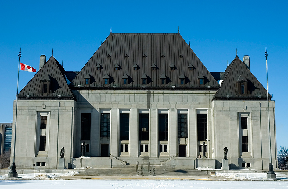
POLYGON ((221 168, 227 147, 230 168, 268 169, 271 95, 250 72, 249 56, 219 71, 209 72, 180 33, 110 33, 77 72, 41 55, 18 95, 16 167, 57 168, 64 146, 68 168, 121 160, 221 168), (80 158, 84 142, 88 157, 80 158))

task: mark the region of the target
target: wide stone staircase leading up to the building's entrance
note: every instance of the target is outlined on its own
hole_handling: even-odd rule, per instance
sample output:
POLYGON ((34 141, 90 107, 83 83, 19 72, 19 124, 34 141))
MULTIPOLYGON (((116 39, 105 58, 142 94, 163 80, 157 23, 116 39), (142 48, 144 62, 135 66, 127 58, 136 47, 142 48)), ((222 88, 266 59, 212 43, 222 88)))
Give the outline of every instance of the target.
POLYGON ((175 169, 164 165, 122 165, 110 169, 87 169, 77 176, 210 176, 197 169, 175 169))

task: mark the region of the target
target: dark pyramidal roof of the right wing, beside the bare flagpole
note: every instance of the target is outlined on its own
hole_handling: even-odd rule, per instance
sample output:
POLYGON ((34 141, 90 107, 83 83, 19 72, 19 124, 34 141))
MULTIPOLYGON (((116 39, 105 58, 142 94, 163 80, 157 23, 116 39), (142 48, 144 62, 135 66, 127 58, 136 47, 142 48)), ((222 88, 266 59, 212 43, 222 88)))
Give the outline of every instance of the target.
MULTIPOLYGON (((239 59, 236 55, 235 59, 225 70, 226 75, 222 81, 222 84, 213 100, 223 100, 229 95, 229 100, 231 99, 267 99, 267 90, 263 85, 257 80, 257 78, 251 73, 251 71, 246 67, 246 65, 239 59), (239 94, 236 82, 237 81, 247 81, 248 83, 248 94, 239 94), (261 98, 259 98, 261 95, 261 98)), ((269 94, 270 95, 270 94, 269 94)), ((270 95, 271 98, 271 95, 270 95)))

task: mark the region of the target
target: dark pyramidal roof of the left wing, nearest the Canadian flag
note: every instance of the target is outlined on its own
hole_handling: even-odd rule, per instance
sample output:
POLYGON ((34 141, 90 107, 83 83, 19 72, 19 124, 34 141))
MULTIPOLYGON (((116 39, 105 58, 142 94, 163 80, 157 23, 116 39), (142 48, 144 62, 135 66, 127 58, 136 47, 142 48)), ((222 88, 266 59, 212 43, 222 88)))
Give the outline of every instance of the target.
POLYGON ((18 98, 27 99, 27 95, 30 95, 29 99, 46 99, 58 98, 58 95, 61 95, 61 99, 73 99, 73 93, 67 85, 64 73, 64 68, 52 55, 28 82, 28 84, 20 91, 18 98), (47 77, 51 80, 50 89, 52 93, 42 94, 41 80, 47 80, 47 77))

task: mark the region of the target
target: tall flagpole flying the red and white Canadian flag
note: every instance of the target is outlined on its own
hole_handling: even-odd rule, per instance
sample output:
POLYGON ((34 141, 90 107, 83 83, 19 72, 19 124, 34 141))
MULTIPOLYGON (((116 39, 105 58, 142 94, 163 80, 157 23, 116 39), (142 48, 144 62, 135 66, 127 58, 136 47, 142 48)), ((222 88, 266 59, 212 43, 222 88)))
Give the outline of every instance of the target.
POLYGON ((14 127, 14 145, 13 145, 13 161, 10 167, 10 172, 8 174, 9 178, 17 178, 18 174, 16 172, 16 165, 15 165, 15 146, 16 146, 16 125, 17 125, 17 108, 18 108, 18 85, 19 85, 19 65, 20 65, 20 57, 21 57, 21 48, 18 54, 18 78, 17 78, 17 93, 16 93, 16 113, 15 113, 15 127, 14 127))

